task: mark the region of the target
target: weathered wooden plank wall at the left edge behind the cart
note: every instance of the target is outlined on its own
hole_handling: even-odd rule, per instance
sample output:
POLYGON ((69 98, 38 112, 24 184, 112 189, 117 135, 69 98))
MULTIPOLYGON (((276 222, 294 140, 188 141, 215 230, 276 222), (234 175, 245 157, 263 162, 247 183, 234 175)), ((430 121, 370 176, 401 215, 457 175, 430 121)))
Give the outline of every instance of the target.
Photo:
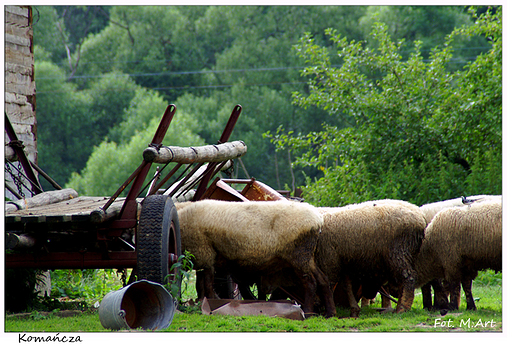
MULTIPOLYGON (((37 163, 36 87, 31 6, 5 6, 5 113, 37 163)), ((4 136, 7 142, 7 136, 4 136)), ((6 178, 9 177, 6 175, 6 178)), ((27 194, 30 197, 29 194, 27 194)), ((9 196, 7 196, 9 197, 9 196)))

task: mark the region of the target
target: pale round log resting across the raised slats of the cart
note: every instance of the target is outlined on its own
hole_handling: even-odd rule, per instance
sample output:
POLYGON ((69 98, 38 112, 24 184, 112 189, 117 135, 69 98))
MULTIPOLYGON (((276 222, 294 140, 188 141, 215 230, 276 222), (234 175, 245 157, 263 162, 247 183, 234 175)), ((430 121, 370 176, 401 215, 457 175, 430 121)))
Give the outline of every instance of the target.
POLYGON ((246 152, 244 142, 234 141, 201 147, 148 147, 143 151, 143 158, 154 163, 220 162, 243 156, 246 152))

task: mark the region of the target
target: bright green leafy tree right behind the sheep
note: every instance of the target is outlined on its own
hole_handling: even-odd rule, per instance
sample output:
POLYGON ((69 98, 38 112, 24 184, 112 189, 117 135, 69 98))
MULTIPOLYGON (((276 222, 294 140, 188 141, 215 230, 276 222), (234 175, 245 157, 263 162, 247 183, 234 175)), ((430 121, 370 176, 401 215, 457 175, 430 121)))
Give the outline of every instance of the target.
POLYGON ((302 75, 309 78, 309 93, 294 93, 294 102, 318 106, 343 122, 308 135, 271 136, 279 150, 299 153, 297 164, 323 172, 307 180, 307 200, 330 206, 379 198, 424 204, 500 194, 500 16, 500 10, 485 13, 475 25, 454 30, 427 61, 420 41, 403 59, 404 41, 391 40, 381 23, 372 32, 375 49, 326 31, 343 60, 340 67, 332 66, 326 47, 305 35, 296 50, 307 65, 302 75), (491 35, 491 49, 464 71, 450 72, 453 37, 475 33, 491 35))

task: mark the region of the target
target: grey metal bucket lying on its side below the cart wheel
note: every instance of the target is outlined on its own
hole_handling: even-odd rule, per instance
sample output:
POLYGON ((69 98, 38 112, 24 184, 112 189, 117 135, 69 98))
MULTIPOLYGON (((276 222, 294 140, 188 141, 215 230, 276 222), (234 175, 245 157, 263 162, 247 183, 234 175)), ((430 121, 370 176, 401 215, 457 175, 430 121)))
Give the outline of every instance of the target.
POLYGON ((99 305, 99 320, 106 329, 168 328, 175 313, 170 293, 160 284, 140 280, 108 293, 99 305))

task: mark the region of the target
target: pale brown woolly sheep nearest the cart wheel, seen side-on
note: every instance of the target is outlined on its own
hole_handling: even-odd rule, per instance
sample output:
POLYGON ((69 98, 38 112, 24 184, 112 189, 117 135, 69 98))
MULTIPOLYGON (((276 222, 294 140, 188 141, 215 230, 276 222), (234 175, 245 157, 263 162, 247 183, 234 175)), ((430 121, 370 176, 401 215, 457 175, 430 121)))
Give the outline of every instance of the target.
POLYGON ((313 311, 317 284, 326 316, 335 315, 329 283, 314 253, 323 217, 307 203, 223 202, 177 204, 182 251, 191 252, 204 271, 204 294, 215 298, 216 266, 269 275, 292 268, 305 287, 303 311, 313 311))

